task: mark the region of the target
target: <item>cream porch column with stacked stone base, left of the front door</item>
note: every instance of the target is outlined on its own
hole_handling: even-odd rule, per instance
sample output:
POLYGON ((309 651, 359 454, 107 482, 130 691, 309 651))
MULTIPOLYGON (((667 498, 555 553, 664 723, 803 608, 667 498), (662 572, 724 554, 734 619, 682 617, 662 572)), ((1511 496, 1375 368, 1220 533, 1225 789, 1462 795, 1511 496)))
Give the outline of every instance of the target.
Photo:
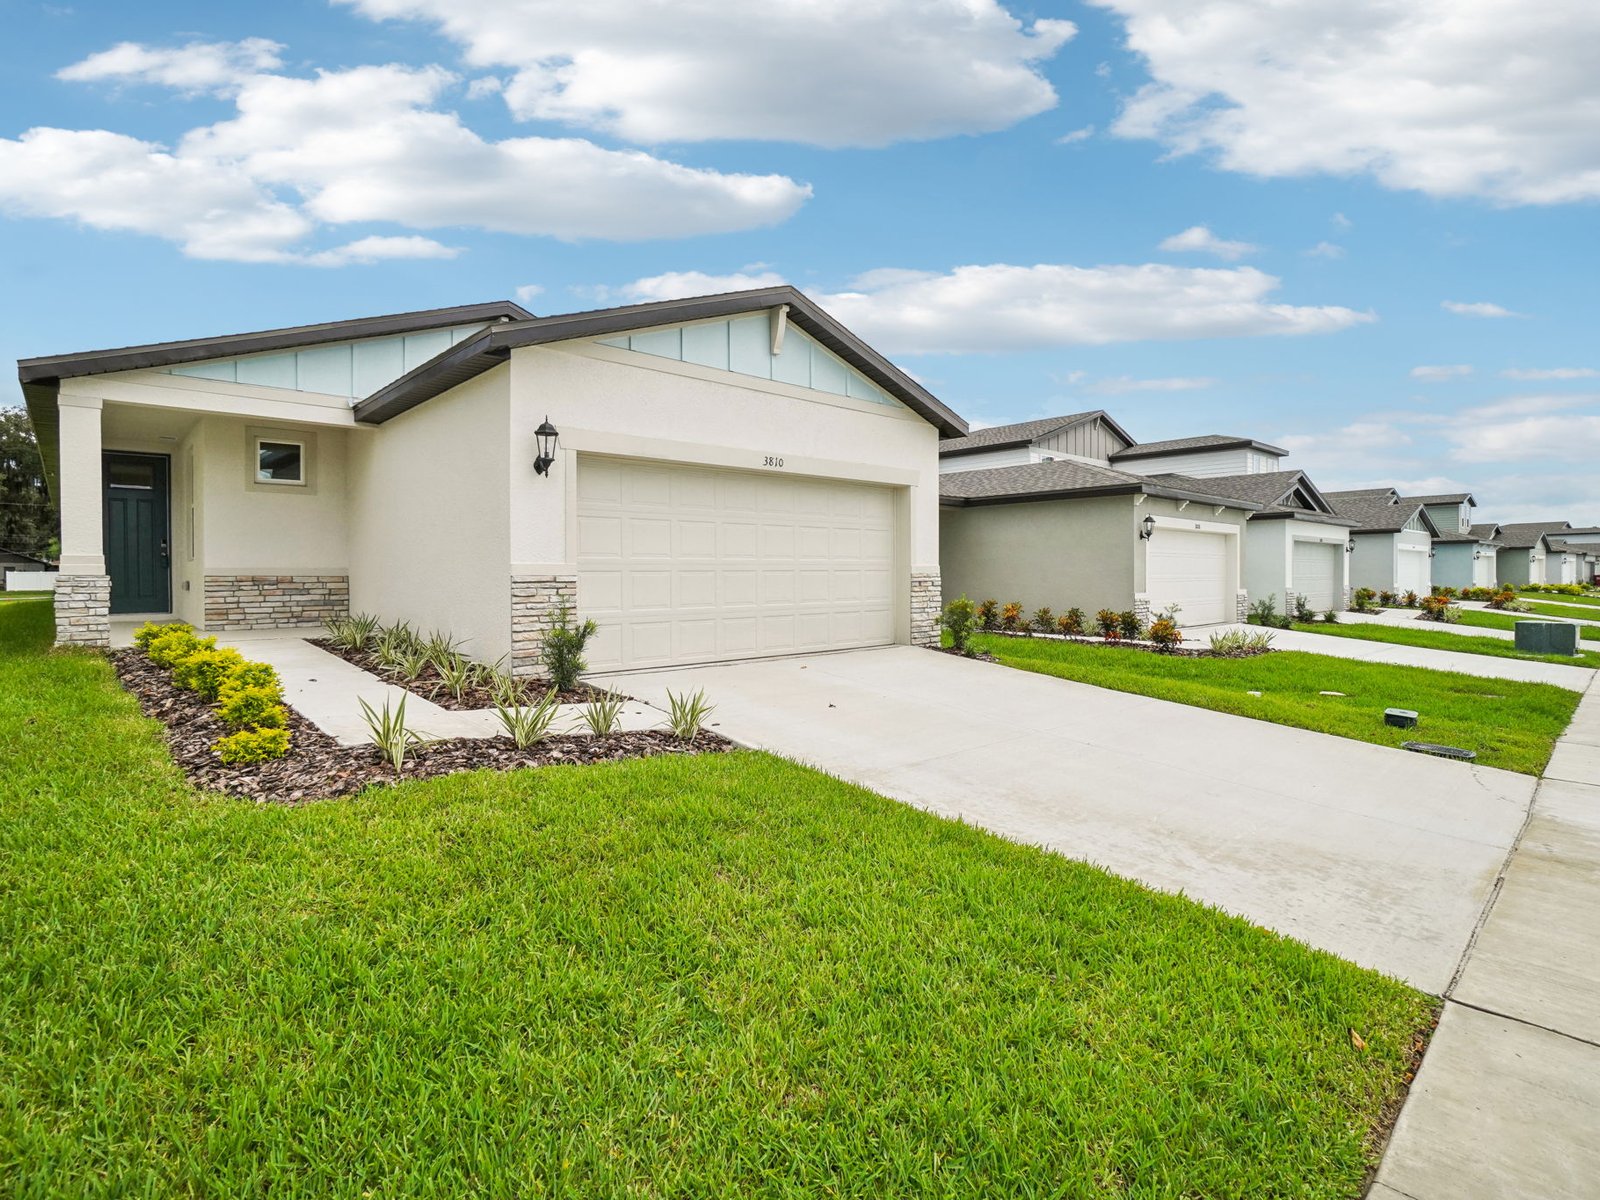
POLYGON ((110 576, 101 518, 101 400, 62 395, 56 403, 61 438, 56 645, 104 646, 110 643, 110 576))

